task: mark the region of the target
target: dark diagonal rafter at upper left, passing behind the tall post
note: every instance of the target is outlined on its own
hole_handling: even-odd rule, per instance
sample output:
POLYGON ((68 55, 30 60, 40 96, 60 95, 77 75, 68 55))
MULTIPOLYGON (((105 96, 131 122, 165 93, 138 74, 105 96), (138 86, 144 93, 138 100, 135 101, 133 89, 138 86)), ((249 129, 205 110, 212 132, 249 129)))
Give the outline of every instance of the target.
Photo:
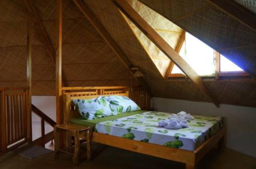
MULTIPOLYGON (((31 0, 24 0, 24 3, 26 5, 26 7, 28 8, 28 11, 35 17, 36 19, 36 23, 38 24, 38 30, 41 32, 41 36, 42 38, 45 40, 46 42, 46 46, 47 46, 47 50, 48 53, 50 55, 50 58, 52 60, 52 62, 54 63, 54 65, 56 65, 56 54, 55 54, 55 49, 53 48, 50 39, 48 37, 48 34, 46 32, 45 26, 44 24, 42 24, 41 19, 39 17, 39 15, 37 15, 36 9, 33 6, 31 0)), ((68 86, 67 82, 66 82, 66 78, 65 75, 62 73, 62 83, 64 86, 68 86)))

